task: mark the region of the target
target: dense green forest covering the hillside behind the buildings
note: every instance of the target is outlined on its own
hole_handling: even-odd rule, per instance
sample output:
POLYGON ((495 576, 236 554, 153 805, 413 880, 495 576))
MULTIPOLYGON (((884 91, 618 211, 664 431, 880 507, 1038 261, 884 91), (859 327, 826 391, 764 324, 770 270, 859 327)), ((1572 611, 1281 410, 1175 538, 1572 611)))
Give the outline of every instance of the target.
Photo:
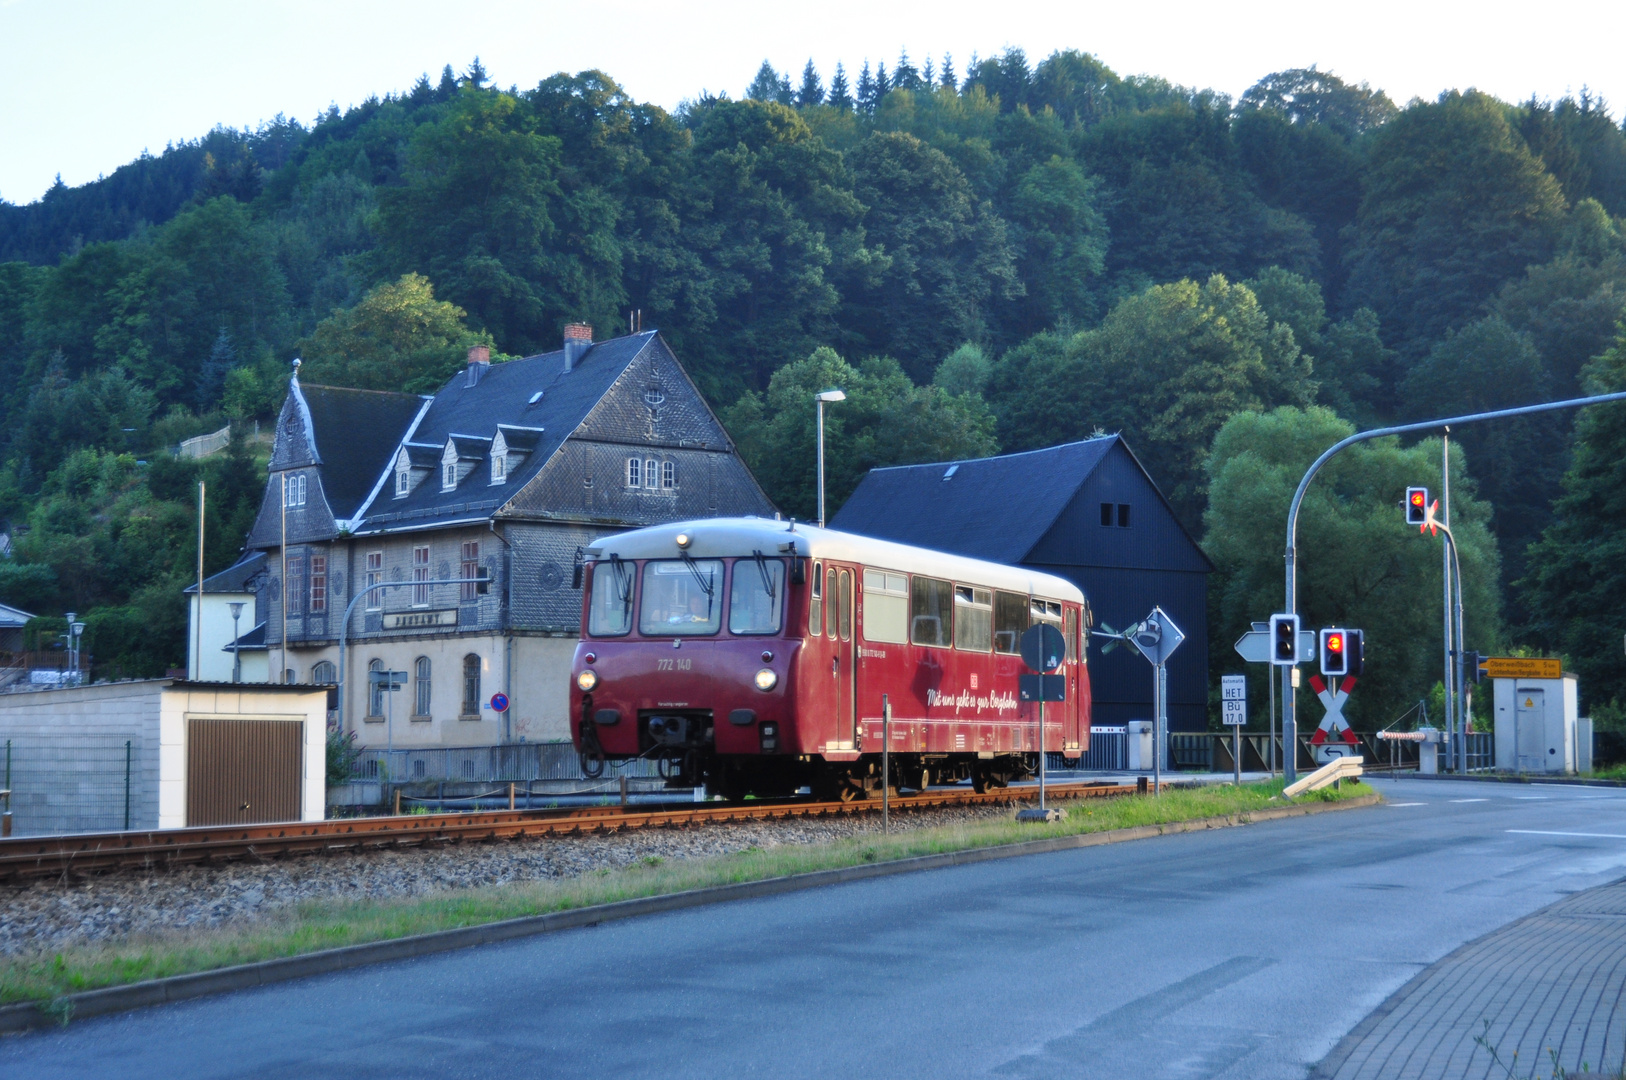
MULTIPOLYGON (((1582 75, 1582 73, 1577 73, 1582 75)), ((787 514, 875 465, 1122 433, 1203 543, 1215 678, 1280 605, 1304 467, 1359 428, 1626 389, 1626 133, 1606 102, 1398 106, 1315 68, 1239 99, 1083 52, 777 72, 675 111, 475 60, 309 124, 216 128, 0 203, 0 602, 88 621, 96 677, 184 662, 195 490, 229 564, 289 361, 429 390, 659 327, 787 514), (231 423, 231 447, 176 446, 231 423)), ((1626 412, 1452 433, 1470 646, 1626 704, 1626 412)), ((1307 625, 1363 626, 1380 727, 1439 682, 1441 441, 1312 486, 1307 625)), ((1485 695, 1481 695, 1483 698, 1485 695)))

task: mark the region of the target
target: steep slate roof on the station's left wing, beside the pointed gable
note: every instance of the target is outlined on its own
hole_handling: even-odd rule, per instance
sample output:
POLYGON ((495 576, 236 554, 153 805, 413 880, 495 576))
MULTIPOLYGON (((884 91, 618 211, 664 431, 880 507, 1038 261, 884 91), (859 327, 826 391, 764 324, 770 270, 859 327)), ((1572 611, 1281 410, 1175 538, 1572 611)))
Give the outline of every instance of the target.
MULTIPOLYGON (((460 379, 462 376, 459 376, 460 379)), ((389 390, 301 384, 333 517, 353 517, 428 398, 389 390)))

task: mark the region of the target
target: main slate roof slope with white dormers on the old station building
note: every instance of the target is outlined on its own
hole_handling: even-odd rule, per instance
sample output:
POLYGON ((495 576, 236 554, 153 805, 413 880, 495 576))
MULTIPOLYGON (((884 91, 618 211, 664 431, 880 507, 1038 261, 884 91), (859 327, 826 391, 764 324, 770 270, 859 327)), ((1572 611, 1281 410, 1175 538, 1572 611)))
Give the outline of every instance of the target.
MULTIPOLYGON (((393 498, 392 485, 384 485, 372 501, 359 511, 364 520, 359 522, 356 532, 489 516, 541 470, 571 433, 587 420, 587 415, 615 385, 628 364, 654 340, 655 330, 646 330, 598 342, 582 353, 571 371, 564 371, 564 351, 559 350, 491 364, 491 369, 483 372, 475 385, 468 385, 467 371, 457 372, 441 387, 423 420, 418 421, 411 434, 413 446, 408 447, 413 460, 418 460, 415 447, 442 449, 449 436, 481 439, 485 444, 481 457, 485 457, 501 423, 502 438, 511 446, 519 446, 514 442, 514 436, 519 436, 522 442, 530 441, 524 438, 525 434, 535 436, 533 446, 525 447, 524 462, 509 472, 507 483, 502 485, 493 485, 489 472, 478 467, 470 470, 452 491, 441 490, 437 475, 420 481, 411 494, 402 499, 393 498), (541 431, 515 431, 525 428, 541 428, 541 431)), ((465 452, 462 438, 457 439, 457 444, 459 452, 465 452)), ((382 467, 393 467, 398 451, 400 436, 397 434, 389 441, 389 462, 382 467)), ((439 462, 439 457, 434 460, 439 462)), ((324 467, 324 486, 327 473, 328 470, 324 467)), ((379 475, 379 470, 374 468, 367 477, 369 490, 377 483, 379 475)), ((337 511, 338 507, 335 507, 335 516, 338 516, 337 511)))

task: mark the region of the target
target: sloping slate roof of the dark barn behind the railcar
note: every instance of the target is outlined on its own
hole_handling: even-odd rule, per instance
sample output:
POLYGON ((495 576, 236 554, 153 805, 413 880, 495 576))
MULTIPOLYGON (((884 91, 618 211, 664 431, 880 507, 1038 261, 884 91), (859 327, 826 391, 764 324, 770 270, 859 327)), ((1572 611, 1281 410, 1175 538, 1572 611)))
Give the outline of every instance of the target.
POLYGON ((1117 441, 1106 436, 1026 454, 872 468, 829 527, 1020 563, 1117 441))

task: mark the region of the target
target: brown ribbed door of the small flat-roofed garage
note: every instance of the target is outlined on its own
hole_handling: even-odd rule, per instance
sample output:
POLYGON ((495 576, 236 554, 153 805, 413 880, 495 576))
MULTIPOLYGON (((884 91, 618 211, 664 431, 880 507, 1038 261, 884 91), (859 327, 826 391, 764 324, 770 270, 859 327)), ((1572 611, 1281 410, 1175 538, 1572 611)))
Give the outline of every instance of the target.
POLYGON ((187 721, 187 825, 299 820, 302 721, 187 721))

